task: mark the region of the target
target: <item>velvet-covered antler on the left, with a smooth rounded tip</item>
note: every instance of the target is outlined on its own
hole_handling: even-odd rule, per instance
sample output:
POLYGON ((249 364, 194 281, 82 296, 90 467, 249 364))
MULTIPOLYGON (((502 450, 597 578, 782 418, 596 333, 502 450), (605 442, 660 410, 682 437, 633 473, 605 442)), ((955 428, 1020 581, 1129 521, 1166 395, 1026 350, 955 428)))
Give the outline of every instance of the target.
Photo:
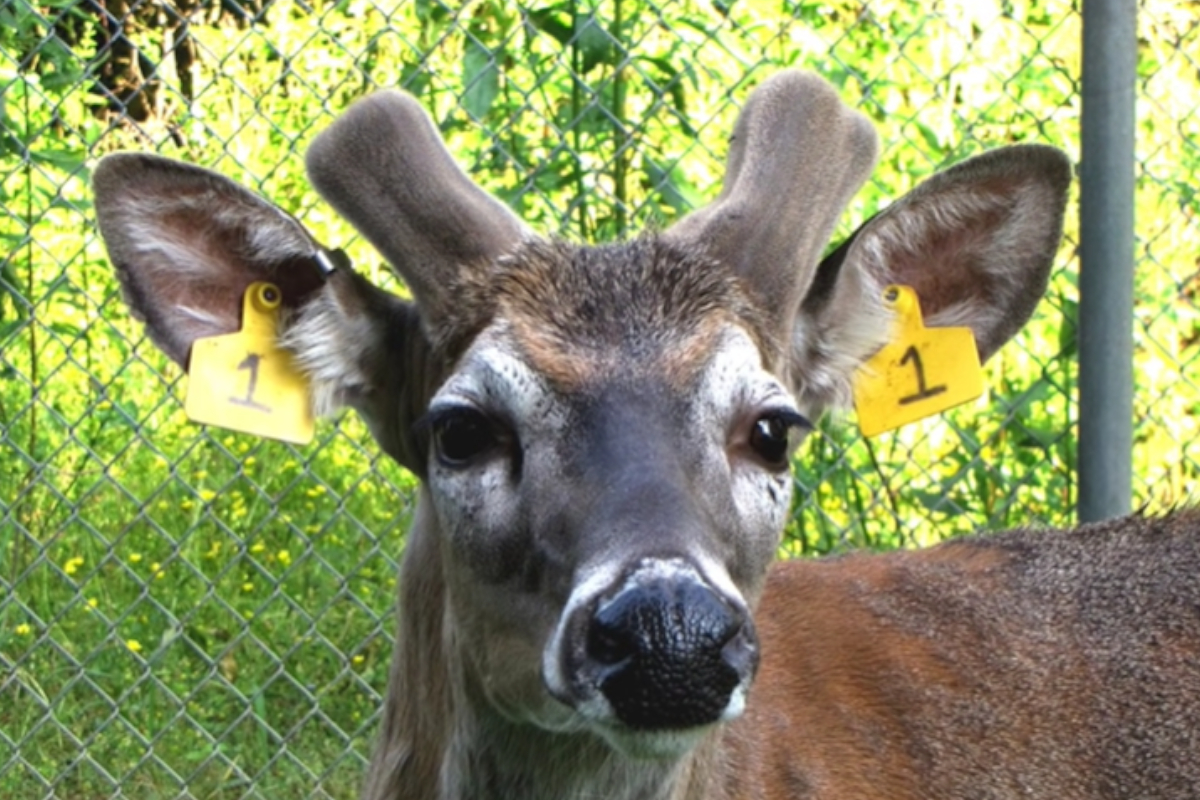
POLYGON ((438 317, 458 271, 527 236, 502 203, 455 163, 432 120, 400 91, 355 103, 308 148, 308 178, 438 317))

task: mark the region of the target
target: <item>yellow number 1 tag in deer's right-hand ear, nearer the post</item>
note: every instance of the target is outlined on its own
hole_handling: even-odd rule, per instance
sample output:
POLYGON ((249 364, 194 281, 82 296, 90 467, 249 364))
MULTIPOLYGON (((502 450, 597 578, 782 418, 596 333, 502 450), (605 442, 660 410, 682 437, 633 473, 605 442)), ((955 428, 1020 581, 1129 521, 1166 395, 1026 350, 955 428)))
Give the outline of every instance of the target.
POLYGON ((979 350, 970 327, 925 327, 917 293, 890 285, 892 341, 858 371, 854 409, 864 437, 874 437, 983 395, 979 350))

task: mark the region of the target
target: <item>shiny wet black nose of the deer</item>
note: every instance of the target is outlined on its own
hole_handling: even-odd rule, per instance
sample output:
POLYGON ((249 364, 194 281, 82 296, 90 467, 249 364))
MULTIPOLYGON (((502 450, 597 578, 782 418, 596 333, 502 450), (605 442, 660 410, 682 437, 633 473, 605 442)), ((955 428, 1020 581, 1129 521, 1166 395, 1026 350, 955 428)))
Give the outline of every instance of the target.
POLYGON ((623 590, 595 612, 587 637, 600 691, 632 728, 716 722, 757 666, 749 616, 694 581, 623 590))

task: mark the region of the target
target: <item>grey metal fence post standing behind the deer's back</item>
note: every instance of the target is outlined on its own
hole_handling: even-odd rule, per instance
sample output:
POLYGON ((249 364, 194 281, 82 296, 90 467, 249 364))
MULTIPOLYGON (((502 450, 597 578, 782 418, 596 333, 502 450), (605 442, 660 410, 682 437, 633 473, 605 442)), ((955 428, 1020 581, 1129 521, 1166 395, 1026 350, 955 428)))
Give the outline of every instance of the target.
POLYGON ((1129 512, 1136 0, 1085 0, 1080 167, 1079 519, 1129 512))

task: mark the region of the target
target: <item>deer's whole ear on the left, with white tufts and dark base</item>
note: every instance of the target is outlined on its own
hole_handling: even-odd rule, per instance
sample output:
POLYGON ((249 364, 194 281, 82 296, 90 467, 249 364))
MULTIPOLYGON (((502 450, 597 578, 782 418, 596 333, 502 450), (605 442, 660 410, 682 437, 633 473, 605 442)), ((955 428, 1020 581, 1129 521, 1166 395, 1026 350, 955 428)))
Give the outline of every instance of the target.
POLYGON ((323 248, 295 218, 206 169, 118 154, 96 167, 94 188, 126 302, 173 361, 186 368, 196 339, 239 330, 246 289, 269 281, 283 295, 281 344, 310 378, 314 411, 356 408, 383 449, 419 471, 397 404, 409 398, 419 414, 414 395, 434 378, 413 374, 430 359, 412 303, 348 264, 325 276, 323 248))

